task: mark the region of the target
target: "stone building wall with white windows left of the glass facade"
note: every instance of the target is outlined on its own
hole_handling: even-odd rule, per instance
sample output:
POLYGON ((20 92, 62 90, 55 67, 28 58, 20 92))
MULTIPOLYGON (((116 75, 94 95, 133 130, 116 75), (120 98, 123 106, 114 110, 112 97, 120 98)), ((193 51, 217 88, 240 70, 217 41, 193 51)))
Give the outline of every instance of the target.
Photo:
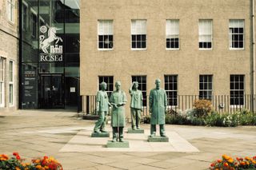
POLYGON ((0 113, 18 108, 18 0, 0 1, 0 113))

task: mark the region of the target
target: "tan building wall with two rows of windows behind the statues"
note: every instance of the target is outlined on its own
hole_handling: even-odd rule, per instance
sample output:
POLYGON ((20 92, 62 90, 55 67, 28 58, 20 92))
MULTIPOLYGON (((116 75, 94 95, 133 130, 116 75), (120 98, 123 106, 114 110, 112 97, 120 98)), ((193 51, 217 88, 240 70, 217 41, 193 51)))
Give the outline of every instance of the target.
POLYGON ((226 95, 227 107, 245 105, 242 96, 255 94, 252 6, 249 0, 81 1, 84 112, 100 81, 109 92, 121 81, 127 94, 139 81, 147 97, 156 78, 169 105, 178 105, 178 95, 226 95))

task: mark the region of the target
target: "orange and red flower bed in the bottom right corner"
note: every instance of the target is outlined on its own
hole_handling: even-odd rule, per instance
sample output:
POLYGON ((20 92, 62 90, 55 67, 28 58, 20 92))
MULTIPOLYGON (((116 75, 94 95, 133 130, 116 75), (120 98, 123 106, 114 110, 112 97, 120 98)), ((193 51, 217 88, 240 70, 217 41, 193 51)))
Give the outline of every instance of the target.
POLYGON ((210 164, 211 170, 242 170, 242 169, 256 169, 256 156, 240 158, 235 160, 227 155, 222 155, 222 159, 215 160, 210 164))

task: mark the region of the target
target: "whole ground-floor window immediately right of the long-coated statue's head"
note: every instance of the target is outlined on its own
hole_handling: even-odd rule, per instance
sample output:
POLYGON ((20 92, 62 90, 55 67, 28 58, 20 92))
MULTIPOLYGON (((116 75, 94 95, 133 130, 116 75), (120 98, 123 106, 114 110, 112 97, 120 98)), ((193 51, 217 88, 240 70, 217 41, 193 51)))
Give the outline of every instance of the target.
POLYGON ((167 105, 177 105, 178 101, 178 76, 165 75, 165 90, 167 95, 167 105))

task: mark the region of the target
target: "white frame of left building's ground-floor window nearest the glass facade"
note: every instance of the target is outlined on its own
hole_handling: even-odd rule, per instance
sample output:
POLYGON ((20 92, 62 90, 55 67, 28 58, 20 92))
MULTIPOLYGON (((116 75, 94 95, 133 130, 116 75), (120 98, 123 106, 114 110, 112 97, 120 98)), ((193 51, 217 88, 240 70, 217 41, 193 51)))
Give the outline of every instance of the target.
POLYGON ((15 75, 15 64, 14 64, 14 60, 10 60, 9 61, 9 77, 11 77, 9 79, 9 105, 10 106, 14 106, 15 104, 15 101, 14 101, 14 98, 15 98, 15 79, 14 79, 14 75, 15 75), (12 63, 12 68, 10 70, 10 63, 12 63), (10 85, 12 85, 12 95, 10 95, 10 85), (11 98, 12 97, 12 98, 11 98), (10 99, 12 99, 12 103, 10 102, 10 99))

